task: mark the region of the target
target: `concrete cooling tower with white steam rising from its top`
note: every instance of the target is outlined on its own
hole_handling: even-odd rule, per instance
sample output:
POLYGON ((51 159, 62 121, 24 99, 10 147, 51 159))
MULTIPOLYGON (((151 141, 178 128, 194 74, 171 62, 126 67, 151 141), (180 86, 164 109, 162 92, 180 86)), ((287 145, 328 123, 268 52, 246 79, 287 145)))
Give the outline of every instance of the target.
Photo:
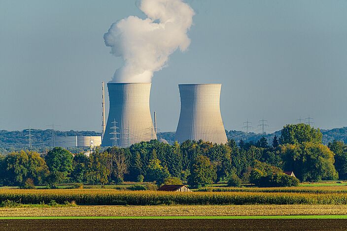
POLYGON ((103 146, 127 147, 157 139, 149 110, 150 83, 108 83, 109 113, 103 146))

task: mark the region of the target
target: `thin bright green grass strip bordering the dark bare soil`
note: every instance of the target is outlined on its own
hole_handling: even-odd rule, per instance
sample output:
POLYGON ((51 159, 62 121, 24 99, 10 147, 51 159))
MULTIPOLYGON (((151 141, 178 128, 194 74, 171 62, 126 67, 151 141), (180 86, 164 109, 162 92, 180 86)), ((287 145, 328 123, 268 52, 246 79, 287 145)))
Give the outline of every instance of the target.
POLYGON ((38 219, 347 219, 347 215, 293 216, 117 216, 117 217, 0 217, 0 220, 38 219))

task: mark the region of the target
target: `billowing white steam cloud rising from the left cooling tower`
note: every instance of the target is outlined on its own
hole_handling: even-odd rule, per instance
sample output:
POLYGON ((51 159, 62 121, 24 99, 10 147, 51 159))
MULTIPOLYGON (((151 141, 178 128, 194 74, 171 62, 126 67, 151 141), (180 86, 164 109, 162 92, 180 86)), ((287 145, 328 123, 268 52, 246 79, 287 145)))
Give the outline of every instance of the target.
POLYGON ((193 9, 182 0, 141 0, 139 9, 146 19, 129 16, 113 23, 104 34, 110 53, 122 57, 111 82, 150 83, 153 72, 161 70, 169 56, 189 44, 187 31, 193 22, 193 9))

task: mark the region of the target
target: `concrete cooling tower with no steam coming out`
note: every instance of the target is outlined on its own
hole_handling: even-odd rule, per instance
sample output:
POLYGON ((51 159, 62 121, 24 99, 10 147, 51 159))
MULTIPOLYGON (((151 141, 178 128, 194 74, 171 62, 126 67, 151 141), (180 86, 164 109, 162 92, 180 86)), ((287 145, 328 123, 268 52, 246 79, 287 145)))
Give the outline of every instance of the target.
POLYGON ((203 140, 225 144, 219 98, 221 84, 180 84, 181 113, 175 140, 203 140))

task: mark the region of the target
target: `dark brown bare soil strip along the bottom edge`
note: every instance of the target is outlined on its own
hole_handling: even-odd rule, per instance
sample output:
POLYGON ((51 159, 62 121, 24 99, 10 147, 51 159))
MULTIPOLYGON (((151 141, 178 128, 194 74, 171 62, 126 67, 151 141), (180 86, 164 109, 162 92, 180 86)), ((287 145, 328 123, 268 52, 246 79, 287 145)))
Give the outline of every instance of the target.
POLYGON ((288 230, 288 231, 341 231, 347 230, 343 219, 52 219, 0 220, 0 230, 36 231, 74 230, 288 230))

